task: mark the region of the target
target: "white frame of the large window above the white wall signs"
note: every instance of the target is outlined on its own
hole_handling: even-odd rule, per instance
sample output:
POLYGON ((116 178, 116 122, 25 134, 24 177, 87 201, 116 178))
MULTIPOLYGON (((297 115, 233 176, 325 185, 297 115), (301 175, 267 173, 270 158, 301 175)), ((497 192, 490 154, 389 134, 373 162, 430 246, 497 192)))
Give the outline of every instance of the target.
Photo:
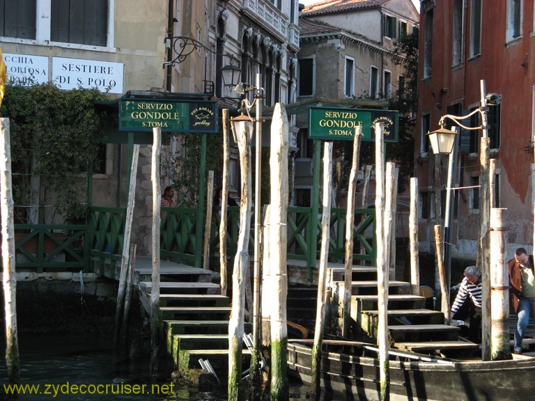
POLYGON ((98 50, 116 52, 114 48, 115 0, 108 0, 108 29, 106 47, 82 45, 80 43, 52 42, 50 40, 50 23, 52 21, 52 0, 36 0, 36 39, 8 38, 1 36, 0 42, 20 43, 23 45, 45 45, 80 50, 98 50))

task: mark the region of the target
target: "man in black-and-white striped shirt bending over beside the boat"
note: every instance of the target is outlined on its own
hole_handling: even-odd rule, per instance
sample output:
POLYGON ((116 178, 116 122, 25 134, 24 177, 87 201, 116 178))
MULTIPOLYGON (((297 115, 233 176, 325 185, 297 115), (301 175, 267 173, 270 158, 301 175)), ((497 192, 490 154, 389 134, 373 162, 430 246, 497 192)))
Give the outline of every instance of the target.
POLYGON ((465 278, 460 282, 457 297, 453 301, 449 313, 449 320, 452 320, 460 307, 465 304, 470 297, 470 340, 479 343, 481 336, 481 269, 475 266, 468 266, 465 269, 465 278))

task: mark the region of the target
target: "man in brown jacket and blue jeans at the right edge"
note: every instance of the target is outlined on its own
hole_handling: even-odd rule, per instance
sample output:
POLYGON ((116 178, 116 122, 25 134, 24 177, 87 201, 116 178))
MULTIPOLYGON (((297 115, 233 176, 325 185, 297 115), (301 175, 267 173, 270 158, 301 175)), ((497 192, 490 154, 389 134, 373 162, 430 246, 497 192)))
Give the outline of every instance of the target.
POLYGON ((513 308, 518 315, 515 328, 515 354, 522 354, 522 339, 529 324, 529 317, 535 317, 535 269, 533 255, 528 255, 524 248, 515 251, 515 257, 509 260, 509 284, 513 308))

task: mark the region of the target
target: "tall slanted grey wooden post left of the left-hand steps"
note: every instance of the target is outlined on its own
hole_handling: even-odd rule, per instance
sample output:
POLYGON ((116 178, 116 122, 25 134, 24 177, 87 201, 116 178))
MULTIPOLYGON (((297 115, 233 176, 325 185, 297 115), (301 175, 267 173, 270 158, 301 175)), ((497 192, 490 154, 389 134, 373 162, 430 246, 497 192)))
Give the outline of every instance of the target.
POLYGON ((137 162, 139 159, 139 144, 134 145, 132 152, 132 166, 130 168, 130 188, 128 189, 128 202, 126 205, 125 215, 125 237, 123 240, 123 253, 121 255, 121 274, 119 275, 119 288, 117 291, 117 304, 115 309, 115 327, 114 327, 114 351, 116 356, 121 354, 122 346, 119 346, 121 338, 121 322, 125 308, 125 287, 130 267, 130 237, 132 234, 132 217, 134 216, 134 204, 136 196, 136 176, 137 162))

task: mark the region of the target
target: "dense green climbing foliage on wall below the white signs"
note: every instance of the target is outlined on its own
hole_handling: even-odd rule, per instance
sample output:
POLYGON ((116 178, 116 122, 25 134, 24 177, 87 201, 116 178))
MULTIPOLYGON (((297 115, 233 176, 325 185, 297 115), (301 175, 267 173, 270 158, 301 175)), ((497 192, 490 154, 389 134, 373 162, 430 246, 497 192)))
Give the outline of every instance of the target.
MULTIPOLYGON (((107 100, 97 89, 62 91, 54 84, 7 85, 0 116, 10 119, 13 197, 19 217, 25 207, 54 199, 54 212, 65 214, 82 196, 81 176, 94 164, 107 116, 95 109, 107 100), (38 176, 40 187, 31 178, 38 176)), ((20 221, 21 219, 19 219, 20 221)))

